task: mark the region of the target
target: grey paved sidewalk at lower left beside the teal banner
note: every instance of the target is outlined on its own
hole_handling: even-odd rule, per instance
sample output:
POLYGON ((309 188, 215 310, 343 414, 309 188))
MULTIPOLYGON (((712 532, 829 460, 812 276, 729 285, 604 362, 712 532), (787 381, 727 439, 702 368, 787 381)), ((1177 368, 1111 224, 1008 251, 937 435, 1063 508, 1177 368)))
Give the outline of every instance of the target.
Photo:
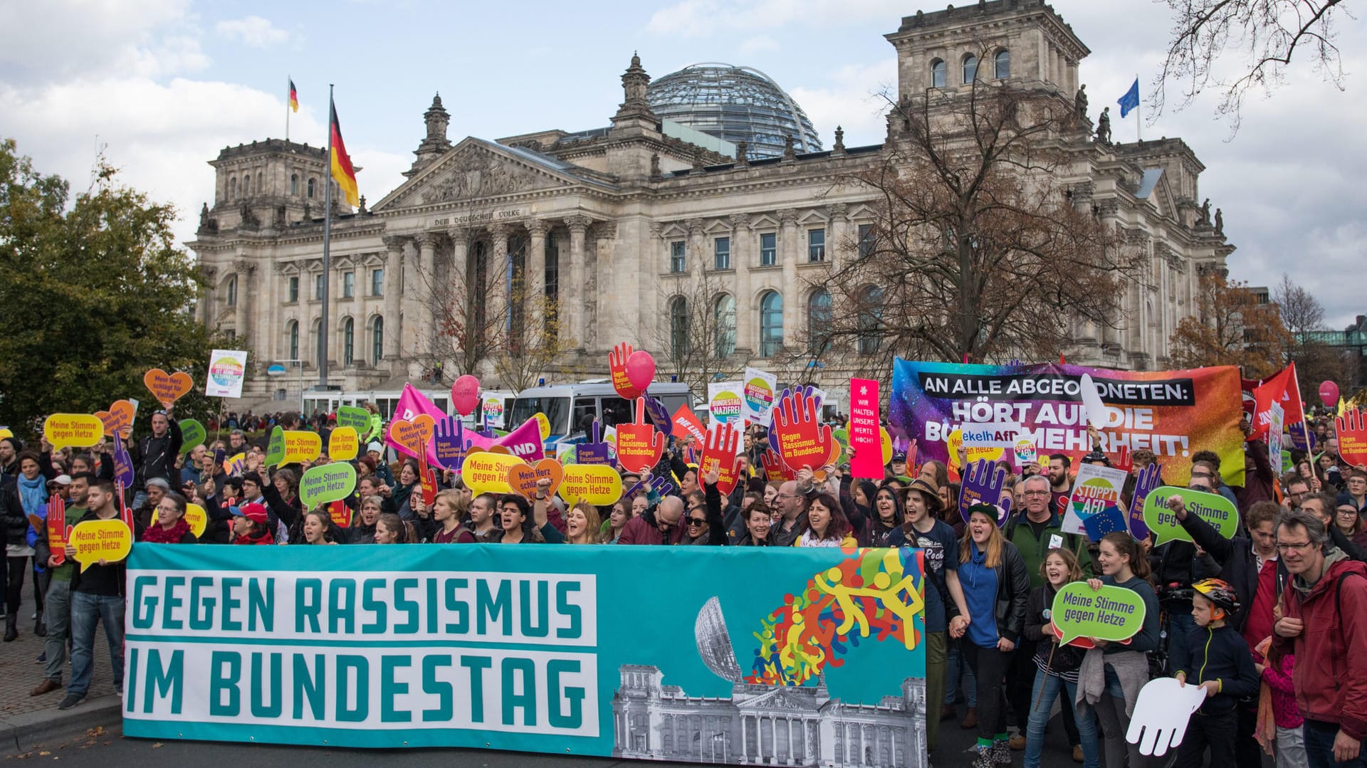
MULTIPOLYGON (((31 575, 29 574, 30 578, 31 575)), ((55 730, 77 728, 87 722, 92 726, 116 723, 119 698, 109 678, 109 646, 104 640, 104 629, 96 629, 94 676, 86 700, 62 712, 57 704, 66 696, 64 690, 29 696, 44 676, 44 666, 34 660, 42 653, 45 638, 33 634, 33 588, 26 579, 23 604, 19 605, 19 638, 0 642, 0 742, 8 746, 10 739, 18 738, 22 743, 55 730)), ((62 682, 71 682, 70 653, 62 682)))

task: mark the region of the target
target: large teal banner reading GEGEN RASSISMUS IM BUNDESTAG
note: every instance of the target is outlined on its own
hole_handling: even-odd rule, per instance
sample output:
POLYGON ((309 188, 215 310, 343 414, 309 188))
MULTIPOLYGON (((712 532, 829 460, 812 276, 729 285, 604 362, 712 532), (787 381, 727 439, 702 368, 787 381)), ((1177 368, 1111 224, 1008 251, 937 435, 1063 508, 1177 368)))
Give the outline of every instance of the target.
POLYGON ((919 549, 138 544, 124 734, 921 767, 923 592, 919 549))

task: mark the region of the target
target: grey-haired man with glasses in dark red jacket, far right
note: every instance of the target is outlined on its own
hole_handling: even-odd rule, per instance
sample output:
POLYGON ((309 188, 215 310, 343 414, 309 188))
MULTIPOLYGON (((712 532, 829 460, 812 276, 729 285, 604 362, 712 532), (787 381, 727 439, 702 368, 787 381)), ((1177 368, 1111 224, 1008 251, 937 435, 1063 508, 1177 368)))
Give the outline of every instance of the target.
POLYGON ((1282 512, 1277 549, 1292 575, 1274 641, 1296 655, 1292 685, 1311 768, 1367 768, 1367 566, 1330 544, 1310 511, 1282 512))

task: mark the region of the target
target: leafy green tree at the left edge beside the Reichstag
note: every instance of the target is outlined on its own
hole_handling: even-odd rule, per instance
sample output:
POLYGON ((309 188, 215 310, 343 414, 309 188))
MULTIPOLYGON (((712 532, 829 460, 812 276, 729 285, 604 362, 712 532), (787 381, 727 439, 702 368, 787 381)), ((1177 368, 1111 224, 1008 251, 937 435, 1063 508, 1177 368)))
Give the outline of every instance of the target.
POLYGON ((90 189, 72 200, 64 179, 0 142, 0 424, 21 437, 36 437, 48 414, 123 398, 141 402, 145 425, 160 407, 142 384, 153 368, 195 383, 178 418, 217 410, 204 376, 211 348, 227 339, 194 318, 200 275, 175 245, 175 210, 116 175, 100 157, 90 189))

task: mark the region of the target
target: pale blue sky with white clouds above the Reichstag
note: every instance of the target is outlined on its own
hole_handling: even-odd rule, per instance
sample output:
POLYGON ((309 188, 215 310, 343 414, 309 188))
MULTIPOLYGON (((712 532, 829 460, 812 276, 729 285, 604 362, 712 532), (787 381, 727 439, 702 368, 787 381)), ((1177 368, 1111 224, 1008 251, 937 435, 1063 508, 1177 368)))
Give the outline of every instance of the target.
MULTIPOLYGON (((968 5, 968 1, 960 3, 968 5)), ((213 191, 205 161, 226 145, 284 134, 286 77, 299 92, 290 137, 325 142, 327 86, 357 165, 379 201, 402 182, 435 92, 450 138, 604 126, 619 75, 638 51, 652 77, 697 61, 748 64, 772 77, 828 148, 878 143, 880 100, 895 79, 882 36, 915 0, 682 0, 679 3, 190 3, 0 1, 0 137, 37 168, 85 189, 96 153, 124 182, 180 212, 190 239, 213 191)), ((1057 0, 1092 55, 1081 63, 1091 112, 1136 74, 1144 96, 1169 38, 1165 4, 1057 0)), ((1275 284, 1282 272, 1319 297, 1331 327, 1367 313, 1367 22, 1342 18, 1345 90, 1295 67, 1271 98, 1252 97, 1239 134, 1202 97, 1144 135, 1181 137, 1206 164, 1202 195, 1225 212, 1239 250, 1233 277, 1275 284), (1345 279, 1346 277, 1346 279, 1345 279)), ((1132 120, 1115 120, 1133 141, 1132 120)))

